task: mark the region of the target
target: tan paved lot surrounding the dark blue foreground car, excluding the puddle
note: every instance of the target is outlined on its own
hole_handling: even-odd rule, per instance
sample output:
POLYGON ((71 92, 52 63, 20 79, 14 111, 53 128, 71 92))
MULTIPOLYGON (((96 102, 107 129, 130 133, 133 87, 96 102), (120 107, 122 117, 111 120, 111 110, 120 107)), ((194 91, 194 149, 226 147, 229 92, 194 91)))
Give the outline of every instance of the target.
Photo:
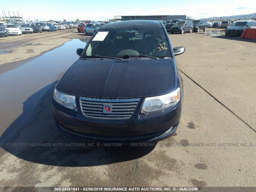
MULTIPOLYGON (((1 107, 14 121, 0 121, 0 186, 256 187, 256 41, 211 28, 169 36, 173 47, 186 47, 176 57, 184 106, 174 136, 147 147, 93 147, 63 136, 51 112, 58 73, 28 95, 20 113, 1 107)), ((73 29, 0 38, 0 78, 77 38, 90 36, 73 29)))

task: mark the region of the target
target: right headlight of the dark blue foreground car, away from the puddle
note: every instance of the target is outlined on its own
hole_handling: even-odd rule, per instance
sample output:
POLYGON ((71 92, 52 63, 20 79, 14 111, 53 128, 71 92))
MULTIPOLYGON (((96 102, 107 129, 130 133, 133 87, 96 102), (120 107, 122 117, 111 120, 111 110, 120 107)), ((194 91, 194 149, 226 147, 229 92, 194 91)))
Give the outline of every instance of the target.
POLYGON ((142 111, 145 113, 155 112, 158 110, 163 110, 180 101, 180 88, 176 89, 174 92, 168 93, 166 95, 149 97, 144 100, 142 104, 142 111))

